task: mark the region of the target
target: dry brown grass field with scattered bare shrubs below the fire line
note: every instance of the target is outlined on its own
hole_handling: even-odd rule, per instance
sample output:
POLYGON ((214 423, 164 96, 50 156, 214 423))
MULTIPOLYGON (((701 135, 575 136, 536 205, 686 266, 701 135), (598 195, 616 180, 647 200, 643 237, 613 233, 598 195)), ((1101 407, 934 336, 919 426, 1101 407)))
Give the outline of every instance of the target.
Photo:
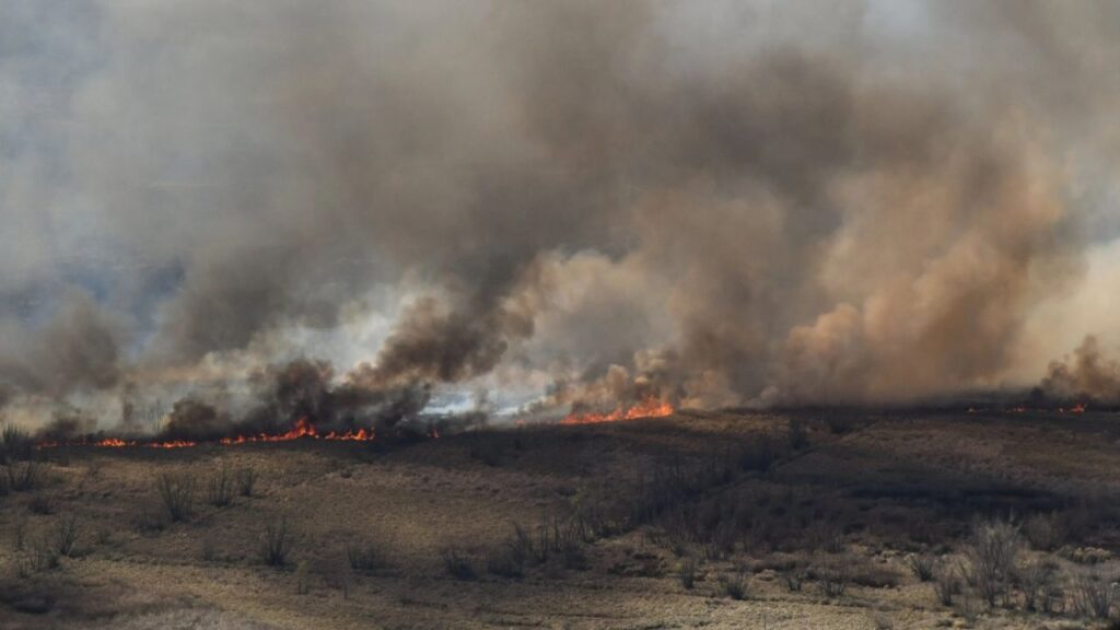
POLYGON ((1092 413, 727 411, 40 450, 7 466, 0 628, 1104 628, 1118 439, 1092 413))

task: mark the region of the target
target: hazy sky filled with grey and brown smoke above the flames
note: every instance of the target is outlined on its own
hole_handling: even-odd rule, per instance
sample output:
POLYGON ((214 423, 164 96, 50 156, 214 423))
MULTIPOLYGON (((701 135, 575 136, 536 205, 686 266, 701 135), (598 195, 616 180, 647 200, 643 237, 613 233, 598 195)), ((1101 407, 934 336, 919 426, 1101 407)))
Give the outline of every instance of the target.
POLYGON ((299 358, 429 410, 1075 390, 1120 343, 1118 36, 1108 0, 0 0, 0 399, 236 409, 299 358))

